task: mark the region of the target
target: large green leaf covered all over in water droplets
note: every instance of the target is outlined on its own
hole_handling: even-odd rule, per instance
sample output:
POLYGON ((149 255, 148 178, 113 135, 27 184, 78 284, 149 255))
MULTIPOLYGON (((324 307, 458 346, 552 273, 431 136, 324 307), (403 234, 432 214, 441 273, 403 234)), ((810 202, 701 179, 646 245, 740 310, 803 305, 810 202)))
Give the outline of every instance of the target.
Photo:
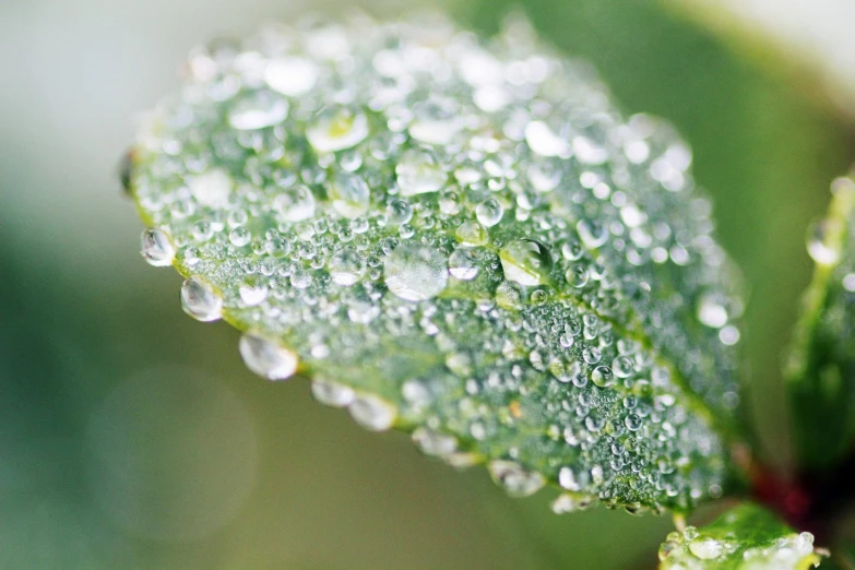
POLYGON ((741 301, 691 154, 523 23, 268 29, 140 133, 143 256, 272 380, 556 511, 728 483, 741 301))

